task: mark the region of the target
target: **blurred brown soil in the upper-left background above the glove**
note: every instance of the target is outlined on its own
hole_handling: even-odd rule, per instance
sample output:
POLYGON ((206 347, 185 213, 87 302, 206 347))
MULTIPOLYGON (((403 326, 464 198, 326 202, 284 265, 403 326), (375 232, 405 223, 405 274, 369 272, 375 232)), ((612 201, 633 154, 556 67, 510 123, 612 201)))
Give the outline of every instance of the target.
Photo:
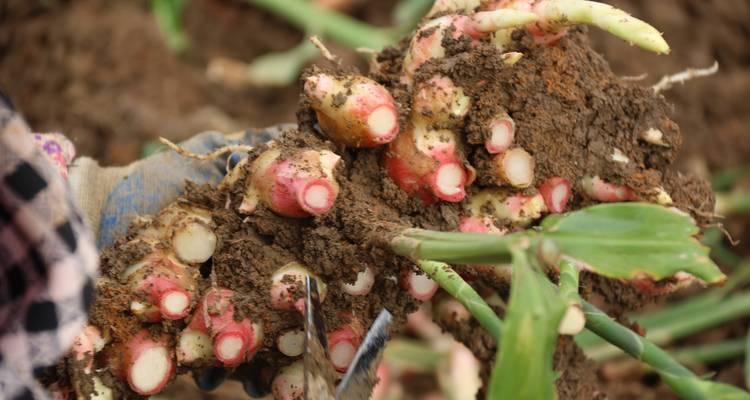
POLYGON ((209 82, 217 56, 251 60, 302 35, 242 1, 195 0, 184 58, 164 45, 148 1, 26 1, 0 5, 0 87, 37 130, 62 131, 104 164, 140 156, 147 140, 182 140, 293 120, 296 87, 228 90, 209 82), (262 34, 258 34, 262 32, 262 34))

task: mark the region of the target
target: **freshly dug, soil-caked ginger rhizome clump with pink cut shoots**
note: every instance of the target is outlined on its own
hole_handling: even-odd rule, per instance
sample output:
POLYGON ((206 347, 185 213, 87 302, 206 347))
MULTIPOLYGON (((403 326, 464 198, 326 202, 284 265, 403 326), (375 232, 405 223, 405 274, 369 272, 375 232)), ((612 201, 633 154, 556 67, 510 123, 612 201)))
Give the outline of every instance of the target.
MULTIPOLYGON (((299 399, 308 276, 338 373, 382 308, 405 320, 432 302, 438 322, 475 324, 384 244, 396 229, 503 235, 611 201, 700 209, 668 168, 679 132, 666 105, 619 81, 576 24, 668 51, 600 3, 440 0, 368 76, 306 72, 297 128, 107 250, 92 326, 67 362, 73 391, 148 396, 176 371, 257 363, 274 398, 299 399)), ((476 267, 462 274, 497 289, 501 274, 476 267)), ((561 331, 580 317, 571 308, 561 331)))

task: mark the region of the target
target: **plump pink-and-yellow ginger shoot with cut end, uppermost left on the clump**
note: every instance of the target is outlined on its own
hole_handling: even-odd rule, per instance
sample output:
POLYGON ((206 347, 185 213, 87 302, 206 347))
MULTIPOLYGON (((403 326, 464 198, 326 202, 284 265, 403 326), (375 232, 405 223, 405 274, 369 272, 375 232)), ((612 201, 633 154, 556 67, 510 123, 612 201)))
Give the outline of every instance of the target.
POLYGON ((389 143, 398 135, 393 96, 369 78, 319 73, 307 78, 305 93, 320 127, 336 143, 369 148, 389 143))

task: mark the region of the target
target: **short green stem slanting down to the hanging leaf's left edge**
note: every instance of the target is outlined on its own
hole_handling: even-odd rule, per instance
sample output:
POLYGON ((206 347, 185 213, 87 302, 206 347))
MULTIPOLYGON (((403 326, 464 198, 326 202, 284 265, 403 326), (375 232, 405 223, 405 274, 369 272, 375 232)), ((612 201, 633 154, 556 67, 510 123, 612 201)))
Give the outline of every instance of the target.
POLYGON ((417 261, 417 265, 443 290, 461 302, 495 340, 500 340, 503 333, 503 323, 500 317, 448 264, 420 260, 417 261))

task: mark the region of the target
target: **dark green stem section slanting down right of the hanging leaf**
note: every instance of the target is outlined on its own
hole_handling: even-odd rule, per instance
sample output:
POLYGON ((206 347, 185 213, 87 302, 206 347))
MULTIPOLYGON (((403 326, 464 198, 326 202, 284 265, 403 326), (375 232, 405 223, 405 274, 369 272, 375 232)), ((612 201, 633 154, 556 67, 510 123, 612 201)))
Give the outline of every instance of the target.
POLYGON ((636 359, 659 372, 675 376, 694 376, 689 369, 678 363, 656 344, 618 324, 595 306, 583 302, 583 311, 586 314, 586 328, 636 359))

